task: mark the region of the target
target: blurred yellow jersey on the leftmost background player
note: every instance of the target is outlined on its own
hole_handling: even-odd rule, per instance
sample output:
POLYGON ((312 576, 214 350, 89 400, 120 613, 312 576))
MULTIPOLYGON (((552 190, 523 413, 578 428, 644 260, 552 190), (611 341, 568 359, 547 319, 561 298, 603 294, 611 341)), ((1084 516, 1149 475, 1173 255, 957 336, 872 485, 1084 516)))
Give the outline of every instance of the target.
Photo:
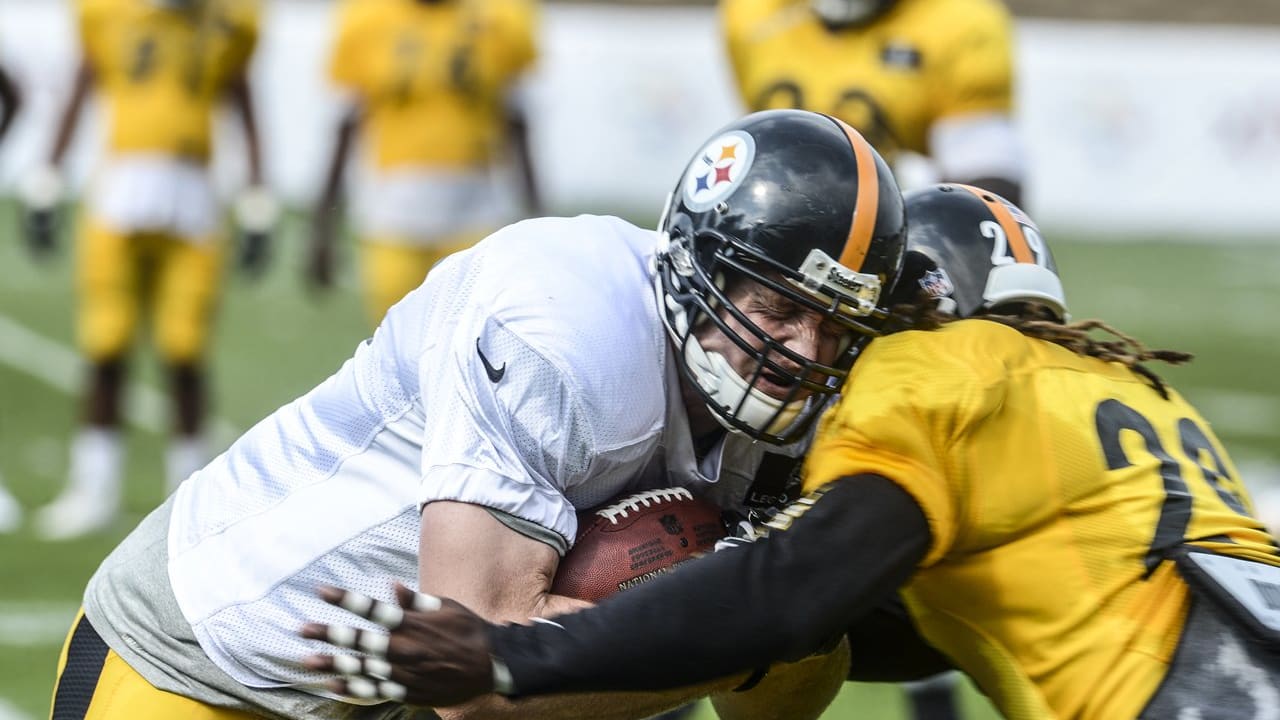
POLYGON ((79 32, 106 104, 108 150, 206 161, 214 110, 243 77, 257 42, 256 1, 173 9, 150 0, 79 0, 79 32))

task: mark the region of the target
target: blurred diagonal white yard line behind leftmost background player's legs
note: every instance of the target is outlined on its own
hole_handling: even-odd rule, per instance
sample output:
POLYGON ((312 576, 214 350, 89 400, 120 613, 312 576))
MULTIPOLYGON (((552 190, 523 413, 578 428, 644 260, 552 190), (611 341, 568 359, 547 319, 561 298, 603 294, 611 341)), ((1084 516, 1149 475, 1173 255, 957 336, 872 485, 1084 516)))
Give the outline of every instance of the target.
MULTIPOLYGON (((0 364, 67 395, 78 395, 83 383, 84 365, 78 352, 55 340, 50 340, 0 315, 0 364)), ((131 383, 124 401, 124 418, 131 425, 156 434, 169 429, 169 401, 156 388, 131 383)), ((210 423, 212 437, 234 438, 239 434, 225 418, 210 423)), ((3 720, 3 719, 0 719, 3 720)))

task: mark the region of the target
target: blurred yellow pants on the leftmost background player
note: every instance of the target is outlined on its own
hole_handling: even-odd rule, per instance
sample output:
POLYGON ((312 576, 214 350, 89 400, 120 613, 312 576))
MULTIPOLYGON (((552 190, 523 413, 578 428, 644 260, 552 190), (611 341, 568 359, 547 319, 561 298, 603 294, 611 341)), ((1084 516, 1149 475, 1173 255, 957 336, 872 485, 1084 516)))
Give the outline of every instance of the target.
POLYGON ((223 243, 168 233, 120 233, 83 222, 77 246, 81 350, 91 360, 124 355, 143 313, 160 356, 205 351, 223 272, 223 243))

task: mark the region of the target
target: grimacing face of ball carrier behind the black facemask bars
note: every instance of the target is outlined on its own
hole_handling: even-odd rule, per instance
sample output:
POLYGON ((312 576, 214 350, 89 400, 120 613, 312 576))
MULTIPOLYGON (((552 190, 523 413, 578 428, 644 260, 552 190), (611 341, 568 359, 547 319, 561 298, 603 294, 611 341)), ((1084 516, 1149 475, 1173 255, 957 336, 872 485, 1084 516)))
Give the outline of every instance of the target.
MULTIPOLYGON (((847 347, 850 333, 840 324, 823 318, 820 313, 804 307, 795 300, 769 290, 753 281, 741 281, 736 287, 730 288, 728 300, 737 307, 751 324, 762 331, 774 342, 783 345, 787 350, 817 361, 823 365, 832 365, 841 350, 847 347)), ((741 323, 731 313, 719 309, 719 314, 728 328, 745 338, 756 352, 765 348, 764 338, 741 323)), ((708 354, 716 352, 723 356, 731 368, 746 382, 751 382, 759 370, 759 361, 755 356, 744 350, 713 323, 701 324, 694 334, 698 337, 703 350, 708 354)), ((777 351, 768 351, 767 359, 780 365, 791 375, 800 372, 800 365, 785 357, 777 351)), ((754 387, 760 392, 777 398, 787 400, 788 393, 796 384, 795 379, 787 378, 768 368, 759 370, 759 379, 754 387)), ((809 379, 817 379, 810 377, 809 379)), ((809 391, 801 389, 799 395, 790 400, 804 400, 809 391)))

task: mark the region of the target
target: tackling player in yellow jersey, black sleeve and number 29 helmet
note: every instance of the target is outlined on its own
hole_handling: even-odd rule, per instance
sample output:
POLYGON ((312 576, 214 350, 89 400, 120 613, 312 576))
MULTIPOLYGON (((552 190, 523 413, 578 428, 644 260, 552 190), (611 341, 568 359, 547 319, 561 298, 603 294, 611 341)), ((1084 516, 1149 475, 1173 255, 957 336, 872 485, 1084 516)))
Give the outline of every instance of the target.
MULTIPOLYGON (((868 614, 900 591, 933 665, 855 644, 855 673, 904 679, 941 657, 1011 720, 1274 716, 1280 548, 1208 423, 1146 366, 1189 356, 1069 322, 1047 245, 1004 199, 936 186, 906 211, 901 297, 934 300, 902 306, 915 329, 861 352, 818 428, 808 495, 763 537, 556 624, 485 625, 403 588, 417 610, 393 618, 324 591, 389 629, 384 659, 344 664, 332 687, 381 682, 431 705, 692 684, 850 626, 874 637, 868 614), (367 683, 374 666, 390 680, 367 683)), ((372 646, 351 628, 306 633, 372 646)))

